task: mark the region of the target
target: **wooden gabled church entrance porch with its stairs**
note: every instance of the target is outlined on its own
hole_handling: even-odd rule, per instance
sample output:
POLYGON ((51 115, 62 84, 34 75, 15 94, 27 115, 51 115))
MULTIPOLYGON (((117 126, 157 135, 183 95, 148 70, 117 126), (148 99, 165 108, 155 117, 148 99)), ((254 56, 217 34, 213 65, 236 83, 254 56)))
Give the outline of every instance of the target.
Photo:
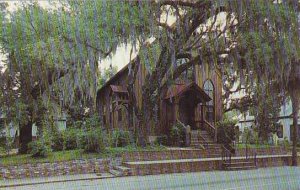
POLYGON ((170 130, 175 123, 183 123, 192 130, 191 145, 217 141, 214 126, 214 107, 211 98, 195 82, 172 85, 165 97, 165 126, 170 130))

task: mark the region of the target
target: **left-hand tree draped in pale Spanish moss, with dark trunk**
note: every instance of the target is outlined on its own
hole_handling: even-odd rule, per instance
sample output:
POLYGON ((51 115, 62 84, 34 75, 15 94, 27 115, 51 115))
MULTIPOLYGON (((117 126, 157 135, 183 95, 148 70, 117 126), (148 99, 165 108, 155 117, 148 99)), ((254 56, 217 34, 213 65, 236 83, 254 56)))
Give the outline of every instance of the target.
POLYGON ((4 9, 0 43, 7 60, 1 106, 7 114, 16 110, 21 120, 21 152, 31 141, 32 124, 53 102, 67 108, 95 102, 99 60, 146 33, 149 20, 138 14, 143 7, 148 18, 150 7, 128 1, 61 1, 54 9, 25 2, 15 12, 4 9), (5 96, 11 92, 14 96, 5 96))

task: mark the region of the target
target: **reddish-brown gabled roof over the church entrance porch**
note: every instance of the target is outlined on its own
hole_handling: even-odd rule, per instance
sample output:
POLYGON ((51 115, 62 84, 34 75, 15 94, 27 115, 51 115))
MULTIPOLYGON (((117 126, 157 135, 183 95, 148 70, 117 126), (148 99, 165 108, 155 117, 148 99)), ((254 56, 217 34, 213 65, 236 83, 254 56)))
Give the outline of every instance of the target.
POLYGON ((194 90, 199 93, 199 98, 202 102, 208 102, 211 98, 201 89, 195 82, 186 84, 175 84, 169 87, 165 99, 170 99, 176 96, 180 96, 187 91, 194 90))

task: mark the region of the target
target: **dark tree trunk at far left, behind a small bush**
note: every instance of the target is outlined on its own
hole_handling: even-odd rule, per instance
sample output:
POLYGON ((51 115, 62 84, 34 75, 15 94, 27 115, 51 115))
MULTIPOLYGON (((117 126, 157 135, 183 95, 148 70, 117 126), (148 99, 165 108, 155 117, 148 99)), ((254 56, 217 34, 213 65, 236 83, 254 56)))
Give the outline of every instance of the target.
POLYGON ((32 122, 20 126, 20 147, 19 153, 26 154, 28 151, 28 144, 32 141, 32 122))

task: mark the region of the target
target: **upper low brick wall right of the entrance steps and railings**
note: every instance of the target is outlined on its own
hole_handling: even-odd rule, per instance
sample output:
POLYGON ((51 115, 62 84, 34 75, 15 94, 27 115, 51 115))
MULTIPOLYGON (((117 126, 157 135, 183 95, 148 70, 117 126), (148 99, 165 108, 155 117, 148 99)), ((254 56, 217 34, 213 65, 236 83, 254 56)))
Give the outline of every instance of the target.
MULTIPOLYGON (((269 148, 250 148, 250 152, 256 152, 257 155, 285 155, 288 150, 284 147, 269 147, 269 148)), ((245 156, 246 148, 236 149, 235 156, 245 156)))

